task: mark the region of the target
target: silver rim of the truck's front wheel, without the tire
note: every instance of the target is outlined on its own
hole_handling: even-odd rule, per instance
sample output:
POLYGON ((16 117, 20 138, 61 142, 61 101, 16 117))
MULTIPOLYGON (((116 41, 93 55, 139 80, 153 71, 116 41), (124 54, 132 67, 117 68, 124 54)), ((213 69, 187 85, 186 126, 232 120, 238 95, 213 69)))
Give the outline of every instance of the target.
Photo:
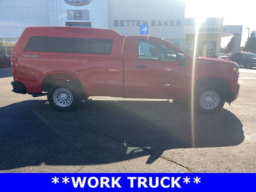
POLYGON ((220 96, 215 91, 206 91, 200 96, 200 105, 204 109, 214 109, 219 103, 220 96))

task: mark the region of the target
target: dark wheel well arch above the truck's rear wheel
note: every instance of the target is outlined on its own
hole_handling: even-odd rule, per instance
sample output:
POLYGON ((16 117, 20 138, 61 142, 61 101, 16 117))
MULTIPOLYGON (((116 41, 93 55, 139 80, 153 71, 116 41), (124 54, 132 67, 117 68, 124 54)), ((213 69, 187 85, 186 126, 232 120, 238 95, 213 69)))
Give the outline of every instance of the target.
POLYGON ((85 95, 82 84, 78 78, 70 74, 62 74, 62 73, 47 75, 42 82, 42 91, 48 92, 50 86, 56 82, 67 82, 67 83, 74 84, 74 86, 76 86, 80 90, 81 94, 85 95))

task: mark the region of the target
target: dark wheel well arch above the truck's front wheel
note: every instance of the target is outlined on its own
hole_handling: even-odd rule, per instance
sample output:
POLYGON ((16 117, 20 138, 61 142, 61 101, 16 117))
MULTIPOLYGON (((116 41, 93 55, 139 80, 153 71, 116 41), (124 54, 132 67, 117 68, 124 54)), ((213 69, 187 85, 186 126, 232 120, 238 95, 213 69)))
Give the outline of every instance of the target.
POLYGON ((225 92, 226 101, 230 100, 231 86, 226 79, 219 78, 219 77, 205 77, 197 80, 195 83, 195 87, 205 86, 205 85, 214 85, 214 86, 220 87, 225 92))

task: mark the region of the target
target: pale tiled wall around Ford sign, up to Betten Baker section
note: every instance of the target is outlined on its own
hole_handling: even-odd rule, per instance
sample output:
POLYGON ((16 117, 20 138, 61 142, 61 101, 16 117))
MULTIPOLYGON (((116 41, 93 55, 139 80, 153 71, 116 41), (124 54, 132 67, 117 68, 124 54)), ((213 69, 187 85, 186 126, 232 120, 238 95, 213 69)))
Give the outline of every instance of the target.
POLYGON ((28 26, 66 26, 66 22, 92 22, 109 28, 108 0, 72 6, 64 0, 0 0, 0 38, 19 38, 28 26), (90 20, 67 20, 66 10, 89 10, 90 20))

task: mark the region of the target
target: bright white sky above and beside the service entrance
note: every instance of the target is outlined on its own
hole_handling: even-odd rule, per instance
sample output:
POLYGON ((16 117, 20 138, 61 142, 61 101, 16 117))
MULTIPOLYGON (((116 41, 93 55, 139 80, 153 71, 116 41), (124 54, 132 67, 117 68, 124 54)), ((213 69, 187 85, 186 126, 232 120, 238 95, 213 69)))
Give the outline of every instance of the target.
MULTIPOLYGON (((224 25, 242 25, 242 42, 244 46, 250 33, 256 30, 256 0, 186 0, 185 17, 223 17, 224 25)), ((222 38, 225 47, 231 37, 222 38)))

